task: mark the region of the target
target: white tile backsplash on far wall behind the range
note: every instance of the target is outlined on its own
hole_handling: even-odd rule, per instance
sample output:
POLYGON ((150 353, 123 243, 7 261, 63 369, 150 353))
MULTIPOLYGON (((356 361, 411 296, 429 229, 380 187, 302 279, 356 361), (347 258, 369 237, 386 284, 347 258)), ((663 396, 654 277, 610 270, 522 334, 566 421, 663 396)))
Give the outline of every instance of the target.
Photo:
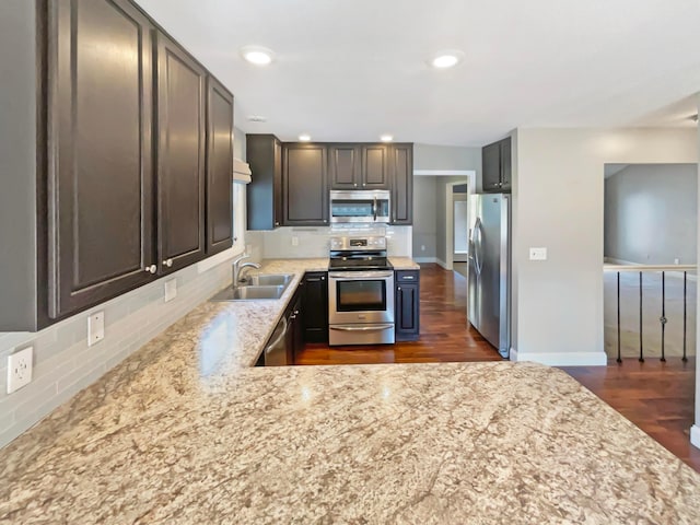
POLYGON ((388 253, 411 256, 411 226, 318 226, 278 228, 264 232, 246 232, 254 259, 327 257, 330 237, 347 234, 386 235, 388 253))

